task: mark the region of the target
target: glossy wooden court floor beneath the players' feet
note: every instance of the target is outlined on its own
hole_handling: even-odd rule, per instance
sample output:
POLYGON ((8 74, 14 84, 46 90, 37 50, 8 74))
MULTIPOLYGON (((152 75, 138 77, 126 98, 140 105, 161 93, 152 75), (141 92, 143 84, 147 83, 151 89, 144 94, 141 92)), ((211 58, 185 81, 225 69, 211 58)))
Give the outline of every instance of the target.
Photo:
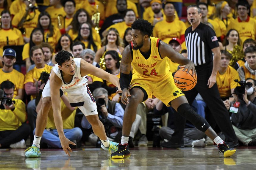
POLYGON ((40 158, 24 158, 23 149, 0 150, 0 169, 86 169, 86 170, 168 170, 168 169, 256 169, 256 147, 239 147, 231 158, 218 155, 213 146, 205 148, 163 149, 135 147, 127 159, 109 159, 109 153, 98 148, 73 150, 71 156, 62 149, 42 149, 40 158))

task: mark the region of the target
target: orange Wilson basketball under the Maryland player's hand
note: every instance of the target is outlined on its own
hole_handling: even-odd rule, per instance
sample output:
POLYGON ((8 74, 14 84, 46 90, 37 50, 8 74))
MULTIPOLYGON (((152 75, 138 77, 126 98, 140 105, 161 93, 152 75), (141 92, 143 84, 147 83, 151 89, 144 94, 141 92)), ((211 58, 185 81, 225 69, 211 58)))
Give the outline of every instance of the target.
POLYGON ((192 76, 192 71, 189 70, 187 74, 187 70, 183 72, 184 68, 177 70, 174 74, 174 83, 180 90, 188 91, 195 87, 197 82, 196 74, 192 76))

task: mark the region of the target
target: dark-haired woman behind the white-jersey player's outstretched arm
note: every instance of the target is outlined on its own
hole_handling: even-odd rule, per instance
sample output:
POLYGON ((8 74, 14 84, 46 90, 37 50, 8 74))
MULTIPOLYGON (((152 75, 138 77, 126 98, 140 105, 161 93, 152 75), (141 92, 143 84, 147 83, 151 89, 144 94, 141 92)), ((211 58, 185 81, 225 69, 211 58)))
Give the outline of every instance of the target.
MULTIPOLYGON (((110 50, 105 53, 104 56, 105 62, 106 62, 106 72, 115 75, 116 77, 120 78, 120 62, 119 62, 119 56, 118 53, 115 50, 110 50)), ((111 101, 120 101, 121 96, 119 94, 116 94, 117 87, 113 85, 109 81, 104 81, 104 84, 102 85, 103 88, 107 89, 109 94, 109 99, 111 101)))

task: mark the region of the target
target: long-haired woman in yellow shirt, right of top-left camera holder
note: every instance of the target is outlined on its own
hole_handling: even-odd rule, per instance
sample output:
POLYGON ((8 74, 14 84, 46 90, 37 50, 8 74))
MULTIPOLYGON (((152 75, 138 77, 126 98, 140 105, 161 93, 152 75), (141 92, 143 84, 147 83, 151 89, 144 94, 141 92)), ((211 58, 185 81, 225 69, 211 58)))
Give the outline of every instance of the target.
POLYGON ((41 12, 38 17, 38 28, 44 31, 44 41, 49 43, 53 49, 60 39, 61 33, 58 28, 51 24, 51 17, 48 12, 41 12))

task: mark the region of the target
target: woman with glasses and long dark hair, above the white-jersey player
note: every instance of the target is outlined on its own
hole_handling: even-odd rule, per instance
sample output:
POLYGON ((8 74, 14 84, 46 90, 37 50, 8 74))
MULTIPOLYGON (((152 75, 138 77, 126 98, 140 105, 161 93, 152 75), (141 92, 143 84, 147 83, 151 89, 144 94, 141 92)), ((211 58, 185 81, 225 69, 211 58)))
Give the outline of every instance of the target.
POLYGON ((79 27, 78 36, 74 41, 81 41, 85 44, 85 48, 89 48, 95 53, 101 48, 101 45, 93 41, 92 27, 89 23, 83 23, 79 27))

